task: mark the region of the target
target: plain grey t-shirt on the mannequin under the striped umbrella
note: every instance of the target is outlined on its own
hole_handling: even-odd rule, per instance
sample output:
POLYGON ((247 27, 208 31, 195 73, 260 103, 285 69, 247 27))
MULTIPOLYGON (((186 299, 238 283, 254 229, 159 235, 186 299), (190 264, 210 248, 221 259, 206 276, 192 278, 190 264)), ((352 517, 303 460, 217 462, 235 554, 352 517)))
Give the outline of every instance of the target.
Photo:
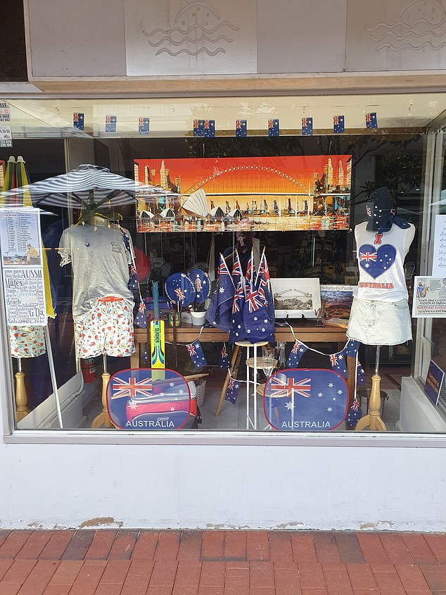
MULTIPOLYGON (((127 230, 125 230, 127 232, 127 230)), ((130 234, 127 232, 130 239, 130 234)), ((130 239, 130 242, 132 240, 130 239)), ((131 244, 132 246, 132 244, 131 244)), ((72 315, 95 308, 98 299, 115 296, 133 301, 127 287, 132 257, 117 225, 72 225, 60 238, 60 266, 72 264, 72 315)))

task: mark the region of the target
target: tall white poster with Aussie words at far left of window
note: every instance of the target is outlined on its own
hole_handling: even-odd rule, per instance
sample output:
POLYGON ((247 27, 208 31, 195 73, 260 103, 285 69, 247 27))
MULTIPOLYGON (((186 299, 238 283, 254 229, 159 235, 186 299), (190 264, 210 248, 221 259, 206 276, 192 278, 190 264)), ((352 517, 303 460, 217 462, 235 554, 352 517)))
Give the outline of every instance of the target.
POLYGON ((39 209, 0 208, 0 253, 7 324, 45 326, 39 209))

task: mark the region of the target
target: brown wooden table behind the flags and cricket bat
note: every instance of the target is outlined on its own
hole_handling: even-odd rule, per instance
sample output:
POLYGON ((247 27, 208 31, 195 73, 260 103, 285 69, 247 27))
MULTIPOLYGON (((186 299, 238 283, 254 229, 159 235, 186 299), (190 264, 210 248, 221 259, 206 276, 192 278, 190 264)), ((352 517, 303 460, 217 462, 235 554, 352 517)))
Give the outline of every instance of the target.
MULTIPOLYGON (((200 327, 195 327, 189 323, 183 322, 181 323, 181 327, 177 327, 177 344, 185 345, 192 343, 198 339, 198 335, 200 334, 200 327)), ((343 349, 345 342, 347 341, 347 336, 345 334, 345 329, 340 327, 329 327, 329 326, 321 326, 317 327, 315 321, 305 320, 302 322, 293 321, 293 331, 294 335, 299 341, 302 341, 305 344, 311 346, 312 343, 337 343, 338 350, 340 351, 343 349)), ((274 337, 276 342, 286 342, 286 343, 293 343, 294 342, 294 335, 291 331, 291 328, 286 327, 276 327, 274 331, 274 337)), ((135 328, 134 329, 134 339, 135 339, 135 346, 136 351, 131 357, 131 367, 132 368, 139 368, 140 361, 141 361, 141 351, 144 349, 144 345, 147 343, 147 332, 144 329, 135 328)), ((172 327, 166 325, 165 327, 165 341, 167 343, 173 343, 174 334, 172 327)), ((215 327, 210 328, 203 328, 203 332, 201 332, 200 342, 201 343, 222 343, 224 341, 228 341, 228 334, 220 329, 215 327)), ((150 345, 148 345, 148 352, 150 353, 150 345)), ((235 367, 236 361, 233 356, 233 361, 231 365, 235 367)), ((347 357, 347 369, 348 369, 348 393, 349 393, 349 403, 352 401, 353 394, 355 394, 355 372, 356 372, 356 363, 355 358, 347 357)), ((222 406, 222 401, 224 400, 224 394, 227 389, 227 383, 229 382, 229 375, 227 375, 227 379, 224 382, 222 395, 219 399, 219 404, 217 406, 217 411, 215 415, 219 415, 220 408, 222 406)))

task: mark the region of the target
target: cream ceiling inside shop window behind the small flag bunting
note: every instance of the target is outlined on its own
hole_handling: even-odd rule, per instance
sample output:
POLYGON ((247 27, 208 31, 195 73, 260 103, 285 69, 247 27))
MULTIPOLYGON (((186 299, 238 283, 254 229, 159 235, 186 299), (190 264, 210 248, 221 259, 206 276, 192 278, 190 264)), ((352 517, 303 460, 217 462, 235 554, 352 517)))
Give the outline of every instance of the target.
POLYGON ((339 96, 211 97, 206 99, 9 99, 13 137, 60 137, 104 132, 106 115, 116 115, 113 136, 136 136, 138 118, 150 118, 155 137, 191 134, 194 118, 215 120, 215 134, 234 131, 248 120, 249 132, 267 133, 269 118, 281 130, 300 134, 301 118, 312 116, 313 131, 326 134, 333 115, 345 116, 345 132, 366 130, 365 114, 376 112, 378 131, 426 129, 446 110, 446 93, 339 96), (84 132, 73 130, 74 112, 84 113, 84 132), (295 132, 293 132, 295 131, 295 132))

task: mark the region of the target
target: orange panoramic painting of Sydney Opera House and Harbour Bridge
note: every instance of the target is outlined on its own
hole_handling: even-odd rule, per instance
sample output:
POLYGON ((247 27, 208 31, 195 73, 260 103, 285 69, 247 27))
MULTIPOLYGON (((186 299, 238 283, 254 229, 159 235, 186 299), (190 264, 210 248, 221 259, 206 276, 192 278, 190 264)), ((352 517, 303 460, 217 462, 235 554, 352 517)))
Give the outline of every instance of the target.
POLYGON ((138 159, 139 232, 348 230, 350 155, 138 159))

